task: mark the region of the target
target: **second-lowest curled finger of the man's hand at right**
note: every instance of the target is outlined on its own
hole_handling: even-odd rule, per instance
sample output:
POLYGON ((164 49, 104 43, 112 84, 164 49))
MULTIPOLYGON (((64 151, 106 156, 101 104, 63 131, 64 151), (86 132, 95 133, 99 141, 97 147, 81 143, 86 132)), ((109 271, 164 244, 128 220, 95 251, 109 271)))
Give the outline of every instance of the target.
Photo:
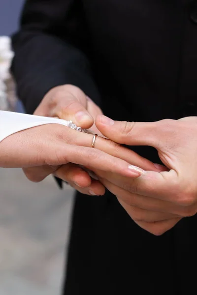
POLYGON ((121 206, 127 211, 127 213, 130 215, 130 217, 135 221, 143 221, 143 222, 158 222, 163 221, 167 219, 174 219, 178 218, 179 216, 176 216, 171 213, 163 213, 163 212, 157 212, 157 211, 150 211, 145 210, 142 208, 129 206, 127 205, 122 199, 118 198, 119 203, 121 206))

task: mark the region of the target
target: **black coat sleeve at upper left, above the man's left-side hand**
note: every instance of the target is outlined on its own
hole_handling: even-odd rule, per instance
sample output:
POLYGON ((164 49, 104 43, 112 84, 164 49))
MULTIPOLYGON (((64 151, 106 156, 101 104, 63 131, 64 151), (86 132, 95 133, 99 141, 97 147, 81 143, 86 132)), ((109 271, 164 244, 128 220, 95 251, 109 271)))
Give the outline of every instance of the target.
POLYGON ((99 104, 99 92, 86 58, 88 30, 80 0, 27 0, 20 30, 12 37, 12 73, 18 96, 33 113, 46 92, 78 86, 99 104))

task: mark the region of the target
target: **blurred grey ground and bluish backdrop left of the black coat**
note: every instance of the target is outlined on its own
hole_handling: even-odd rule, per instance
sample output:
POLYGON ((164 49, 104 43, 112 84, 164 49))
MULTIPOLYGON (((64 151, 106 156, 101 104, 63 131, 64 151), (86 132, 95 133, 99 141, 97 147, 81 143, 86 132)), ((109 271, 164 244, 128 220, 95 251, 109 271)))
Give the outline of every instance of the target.
MULTIPOLYGON (((17 29, 22 3, 0 0, 0 35, 17 29)), ((61 294, 72 203, 52 177, 35 184, 0 169, 0 295, 61 294)))

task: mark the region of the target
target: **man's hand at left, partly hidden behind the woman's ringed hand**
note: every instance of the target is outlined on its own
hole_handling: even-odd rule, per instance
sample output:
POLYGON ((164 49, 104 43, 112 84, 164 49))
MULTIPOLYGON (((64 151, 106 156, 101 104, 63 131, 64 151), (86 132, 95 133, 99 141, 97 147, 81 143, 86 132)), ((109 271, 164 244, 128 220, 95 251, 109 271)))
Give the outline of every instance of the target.
MULTIPOLYGON (((76 125, 91 130, 99 135, 100 132, 94 124, 94 118, 102 114, 100 108, 85 95, 83 91, 72 85, 63 85, 51 89, 43 98, 34 115, 44 117, 57 117, 72 120, 76 125)), ((54 170, 54 167, 40 166, 25 168, 24 173, 32 181, 41 181, 54 173, 65 180, 78 191, 88 194, 103 194, 105 190, 99 181, 93 180, 87 172, 78 165, 68 163, 54 170)))

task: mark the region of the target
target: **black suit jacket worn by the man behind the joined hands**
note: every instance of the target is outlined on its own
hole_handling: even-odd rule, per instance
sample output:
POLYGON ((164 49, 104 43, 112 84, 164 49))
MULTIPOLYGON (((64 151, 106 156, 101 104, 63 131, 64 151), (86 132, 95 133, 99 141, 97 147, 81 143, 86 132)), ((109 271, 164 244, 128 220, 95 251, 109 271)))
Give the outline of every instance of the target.
MULTIPOLYGON (((73 84, 114 119, 197 114, 197 5, 190 0, 28 0, 12 71, 29 113, 73 84)), ((159 162, 153 148, 135 148, 159 162)), ((77 195, 66 295, 196 290, 197 218, 163 236, 140 229, 110 193, 77 195)), ((194 291, 195 292, 195 291, 194 291)))

